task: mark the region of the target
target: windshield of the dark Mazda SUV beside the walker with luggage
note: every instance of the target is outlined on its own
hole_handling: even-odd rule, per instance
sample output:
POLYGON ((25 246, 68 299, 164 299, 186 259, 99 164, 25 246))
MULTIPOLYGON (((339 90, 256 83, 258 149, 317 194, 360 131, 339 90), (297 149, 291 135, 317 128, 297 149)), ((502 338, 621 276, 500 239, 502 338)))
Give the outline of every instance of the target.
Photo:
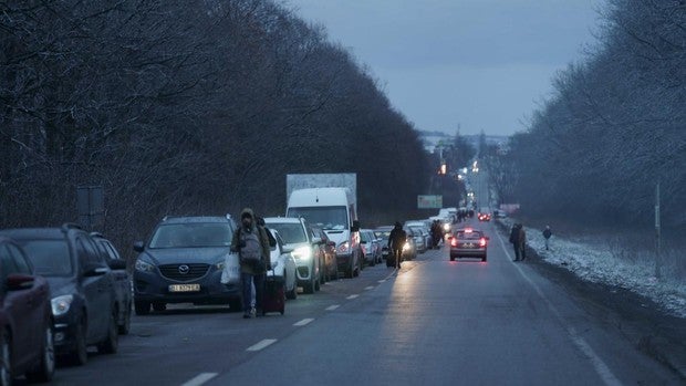
POLYGON ((169 223, 157 228, 149 248, 230 247, 232 236, 228 222, 169 223))

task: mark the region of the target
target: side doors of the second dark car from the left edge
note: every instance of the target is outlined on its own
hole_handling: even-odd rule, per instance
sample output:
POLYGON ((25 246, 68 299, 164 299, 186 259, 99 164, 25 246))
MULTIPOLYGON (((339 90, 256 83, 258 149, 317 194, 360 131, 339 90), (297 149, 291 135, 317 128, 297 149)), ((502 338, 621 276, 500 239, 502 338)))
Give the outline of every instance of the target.
POLYGON ((97 342, 107 332, 112 306, 112 282, 104 259, 97 253, 93 241, 85 236, 75 240, 80 265, 80 284, 87 313, 89 343, 97 342), (98 259, 100 258, 100 259, 98 259), (100 262, 101 260, 102 262, 100 262))

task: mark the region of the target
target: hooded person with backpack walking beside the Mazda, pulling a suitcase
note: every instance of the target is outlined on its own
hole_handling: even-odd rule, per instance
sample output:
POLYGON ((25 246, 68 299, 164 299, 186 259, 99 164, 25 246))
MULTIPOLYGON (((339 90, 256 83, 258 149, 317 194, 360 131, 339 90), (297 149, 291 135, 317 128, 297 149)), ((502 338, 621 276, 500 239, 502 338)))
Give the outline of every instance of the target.
POLYGON ((266 268, 269 262, 269 238, 260 227, 252 209, 246 208, 240 213, 241 226, 233 233, 231 249, 238 252, 243 294, 243 317, 257 315, 261 309, 266 268), (254 291, 254 292, 253 292, 254 291))

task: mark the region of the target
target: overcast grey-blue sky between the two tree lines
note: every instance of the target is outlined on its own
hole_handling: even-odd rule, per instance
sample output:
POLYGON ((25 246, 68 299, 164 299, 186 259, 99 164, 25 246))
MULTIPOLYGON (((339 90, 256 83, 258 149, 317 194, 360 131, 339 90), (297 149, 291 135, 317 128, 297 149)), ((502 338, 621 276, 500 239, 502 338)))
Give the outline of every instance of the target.
POLYGON ((288 0, 418 129, 510 135, 593 43, 602 0, 288 0))

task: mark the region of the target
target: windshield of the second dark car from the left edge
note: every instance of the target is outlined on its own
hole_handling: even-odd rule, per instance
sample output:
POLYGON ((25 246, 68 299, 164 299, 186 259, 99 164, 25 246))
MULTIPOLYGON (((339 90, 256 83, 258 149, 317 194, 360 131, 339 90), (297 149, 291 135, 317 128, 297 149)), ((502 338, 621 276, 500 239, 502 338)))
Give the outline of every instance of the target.
POLYGON ((73 264, 66 240, 19 241, 31 260, 37 274, 66 277, 72 274, 73 264))

